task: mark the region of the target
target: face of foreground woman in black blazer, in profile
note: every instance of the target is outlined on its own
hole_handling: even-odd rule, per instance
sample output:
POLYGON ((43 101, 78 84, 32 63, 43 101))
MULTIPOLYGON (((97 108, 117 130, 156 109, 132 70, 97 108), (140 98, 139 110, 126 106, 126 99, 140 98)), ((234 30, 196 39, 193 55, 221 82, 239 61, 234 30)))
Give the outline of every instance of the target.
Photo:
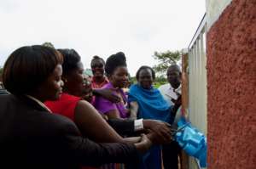
POLYGON ((62 67, 56 65, 53 73, 38 87, 37 95, 39 100, 56 100, 60 99, 63 82, 61 80, 62 67))

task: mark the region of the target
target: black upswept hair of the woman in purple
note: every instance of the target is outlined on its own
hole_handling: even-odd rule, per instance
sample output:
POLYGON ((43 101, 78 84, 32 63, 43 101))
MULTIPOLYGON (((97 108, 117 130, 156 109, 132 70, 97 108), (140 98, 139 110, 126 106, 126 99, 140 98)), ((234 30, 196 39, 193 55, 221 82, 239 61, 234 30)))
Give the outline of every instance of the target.
POLYGON ((108 57, 105 65, 105 72, 107 76, 113 75, 113 71, 116 70, 116 68, 119 66, 127 66, 125 54, 122 52, 112 54, 108 57))

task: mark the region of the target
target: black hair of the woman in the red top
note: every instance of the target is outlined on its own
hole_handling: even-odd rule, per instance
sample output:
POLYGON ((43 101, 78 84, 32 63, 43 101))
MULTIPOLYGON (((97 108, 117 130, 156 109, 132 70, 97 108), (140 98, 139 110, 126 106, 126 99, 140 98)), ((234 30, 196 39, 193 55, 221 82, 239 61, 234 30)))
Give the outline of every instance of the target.
POLYGON ((66 76, 70 71, 78 68, 81 57, 74 49, 57 49, 63 56, 62 75, 66 76))

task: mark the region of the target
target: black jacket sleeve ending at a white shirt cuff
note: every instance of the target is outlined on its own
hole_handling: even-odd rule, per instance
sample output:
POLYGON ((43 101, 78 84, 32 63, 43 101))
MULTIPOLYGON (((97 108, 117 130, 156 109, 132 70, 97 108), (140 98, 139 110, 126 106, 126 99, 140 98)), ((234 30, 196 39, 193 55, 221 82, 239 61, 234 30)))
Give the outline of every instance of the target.
POLYGON ((134 121, 123 119, 109 119, 108 124, 120 135, 132 135, 135 133, 134 121))

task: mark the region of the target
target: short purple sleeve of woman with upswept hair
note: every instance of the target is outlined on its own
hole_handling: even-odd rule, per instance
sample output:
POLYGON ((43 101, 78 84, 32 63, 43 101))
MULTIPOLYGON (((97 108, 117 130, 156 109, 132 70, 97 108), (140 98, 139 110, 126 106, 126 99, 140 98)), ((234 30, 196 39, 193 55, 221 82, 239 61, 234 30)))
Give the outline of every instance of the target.
POLYGON ((106 114, 110 110, 117 110, 117 107, 108 99, 97 97, 96 110, 102 114, 106 114))

